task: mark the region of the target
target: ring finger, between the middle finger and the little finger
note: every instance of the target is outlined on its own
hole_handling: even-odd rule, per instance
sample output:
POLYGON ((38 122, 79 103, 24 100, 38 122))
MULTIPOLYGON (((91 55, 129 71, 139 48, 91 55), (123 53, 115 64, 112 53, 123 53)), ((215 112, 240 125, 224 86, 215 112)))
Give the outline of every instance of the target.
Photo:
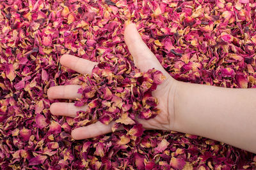
POLYGON ((86 111, 87 106, 77 107, 75 103, 52 103, 50 111, 52 115, 76 117, 77 111, 86 111))

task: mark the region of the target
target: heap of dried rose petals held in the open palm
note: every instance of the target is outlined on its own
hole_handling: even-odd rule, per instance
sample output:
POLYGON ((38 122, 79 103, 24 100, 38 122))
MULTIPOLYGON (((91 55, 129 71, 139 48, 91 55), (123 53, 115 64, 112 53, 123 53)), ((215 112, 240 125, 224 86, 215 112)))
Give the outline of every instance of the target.
POLYGON ((132 134, 141 136, 141 125, 134 126, 136 118, 148 120, 159 113, 156 108, 158 100, 152 96, 152 91, 163 82, 163 74, 156 69, 141 73, 126 58, 111 53, 104 54, 99 60, 90 78, 79 78, 83 83, 78 93, 83 97, 76 101, 75 106, 86 104, 88 110, 80 111, 74 118, 76 127, 97 120, 106 125, 115 121, 113 131, 120 125, 132 125, 132 131, 136 131, 132 134))

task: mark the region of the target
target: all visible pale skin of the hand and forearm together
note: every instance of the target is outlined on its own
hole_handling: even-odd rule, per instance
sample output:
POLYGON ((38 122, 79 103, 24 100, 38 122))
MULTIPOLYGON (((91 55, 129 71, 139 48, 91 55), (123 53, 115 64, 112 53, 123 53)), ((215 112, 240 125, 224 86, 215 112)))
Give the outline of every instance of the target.
MULTIPOLYGON (((150 120, 138 119, 145 129, 177 131, 195 134, 221 141, 237 148, 256 153, 256 89, 227 89, 177 81, 168 74, 147 45, 141 39, 135 24, 125 27, 125 43, 134 63, 141 71, 158 69, 166 80, 159 85, 153 96, 159 99, 157 117, 150 120)), ((90 74, 97 63, 72 55, 63 55, 63 66, 81 74, 90 74)), ((76 99, 79 85, 49 88, 49 99, 76 99)), ((76 117, 76 112, 86 106, 74 103, 52 103, 52 115, 76 117)), ((113 123, 100 122, 79 127, 72 131, 72 138, 86 139, 112 132, 113 123)))

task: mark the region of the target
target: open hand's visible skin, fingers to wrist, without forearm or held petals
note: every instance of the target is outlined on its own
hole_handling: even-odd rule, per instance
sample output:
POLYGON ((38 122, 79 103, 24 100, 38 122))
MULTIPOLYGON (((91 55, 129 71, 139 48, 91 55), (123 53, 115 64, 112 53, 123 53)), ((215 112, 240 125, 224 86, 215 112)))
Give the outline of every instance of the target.
MULTIPOLYGON (((174 125, 173 101, 178 81, 174 80, 172 76, 164 70, 154 53, 152 53, 147 45, 145 45, 135 24, 129 24, 125 27, 124 37, 129 52, 131 52, 131 55, 134 58, 134 63, 141 69, 141 71, 148 71, 148 69, 155 68, 166 76, 166 80, 164 80, 161 85, 158 85, 157 89, 152 92, 153 96, 159 99, 157 108, 159 108, 161 112, 155 118, 150 120, 138 118, 138 122, 142 124, 145 129, 172 130, 174 125)), ((63 66, 69 67, 81 74, 90 74, 93 67, 97 65, 97 62, 81 59, 73 55, 63 55, 60 62, 63 66)), ((47 96, 49 99, 76 99, 76 97, 81 97, 81 94, 77 94, 79 88, 79 85, 51 87, 47 91, 47 96)), ((85 111, 86 108, 87 106, 74 106, 74 103, 52 103, 50 111, 52 115, 76 117, 77 111, 85 111)), ((112 132, 111 127, 113 123, 114 122, 111 122, 109 125, 104 125, 101 122, 96 122, 95 124, 87 125, 85 127, 79 127, 72 131, 72 138, 86 139, 101 134, 107 134, 112 132)))

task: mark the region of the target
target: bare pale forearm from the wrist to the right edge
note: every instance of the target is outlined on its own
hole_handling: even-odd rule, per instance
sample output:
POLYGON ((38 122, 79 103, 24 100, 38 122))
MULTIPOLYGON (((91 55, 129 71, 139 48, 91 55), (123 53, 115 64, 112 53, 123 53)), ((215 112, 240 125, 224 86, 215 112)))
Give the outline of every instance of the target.
POLYGON ((256 153, 256 89, 179 83, 174 101, 174 131, 256 153))

